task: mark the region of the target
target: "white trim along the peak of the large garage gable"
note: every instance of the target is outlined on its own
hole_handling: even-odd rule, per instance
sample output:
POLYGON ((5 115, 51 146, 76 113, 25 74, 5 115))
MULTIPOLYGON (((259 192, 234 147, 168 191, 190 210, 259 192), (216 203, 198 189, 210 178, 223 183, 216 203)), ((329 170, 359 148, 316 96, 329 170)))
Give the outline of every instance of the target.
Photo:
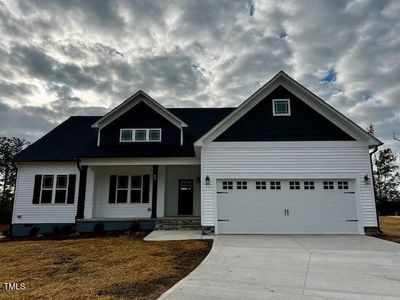
POLYGON ((194 145, 202 146, 204 143, 213 141, 227 128, 229 128, 232 124, 239 120, 243 115, 245 115, 249 110, 251 110, 259 102, 261 102, 265 97, 267 97, 279 85, 285 87, 287 90, 296 95, 311 108, 323 115, 340 129, 347 132, 356 140, 366 140, 368 141, 369 145, 382 145, 382 142, 379 141, 377 138, 364 131, 360 126, 345 117, 335 108, 327 104, 325 101, 307 90, 305 87, 296 82, 294 79, 290 78, 286 73, 282 71, 275 75, 269 82, 267 82, 257 92, 251 95, 238 108, 236 108, 233 112, 231 112, 228 116, 226 116, 223 120, 221 120, 213 128, 211 128, 207 133, 205 133, 200 139, 198 139, 194 143, 194 145))

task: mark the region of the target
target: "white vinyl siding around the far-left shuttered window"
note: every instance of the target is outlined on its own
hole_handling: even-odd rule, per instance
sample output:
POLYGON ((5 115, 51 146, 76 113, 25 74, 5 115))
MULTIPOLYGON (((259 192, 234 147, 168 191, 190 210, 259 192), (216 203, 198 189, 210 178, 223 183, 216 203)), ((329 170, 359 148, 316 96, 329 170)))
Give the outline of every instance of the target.
POLYGON ((76 163, 20 163, 18 166, 12 223, 75 223, 78 187, 79 171, 76 163), (32 204, 36 174, 55 175, 54 180, 56 180, 56 175, 75 174, 74 204, 32 204))

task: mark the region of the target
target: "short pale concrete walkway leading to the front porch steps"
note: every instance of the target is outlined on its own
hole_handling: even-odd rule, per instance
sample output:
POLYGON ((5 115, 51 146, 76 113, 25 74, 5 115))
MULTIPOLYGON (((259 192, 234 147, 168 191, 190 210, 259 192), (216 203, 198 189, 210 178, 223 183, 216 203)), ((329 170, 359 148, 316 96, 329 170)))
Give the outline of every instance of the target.
POLYGON ((213 235, 202 235, 201 230, 154 230, 144 238, 145 241, 208 240, 213 235))

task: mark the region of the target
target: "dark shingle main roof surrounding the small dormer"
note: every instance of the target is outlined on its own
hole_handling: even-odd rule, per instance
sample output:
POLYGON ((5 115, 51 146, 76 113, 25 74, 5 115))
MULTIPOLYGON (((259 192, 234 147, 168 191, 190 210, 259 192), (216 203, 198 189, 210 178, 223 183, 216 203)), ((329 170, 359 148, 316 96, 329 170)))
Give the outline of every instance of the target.
POLYGON ((97 147, 97 129, 91 125, 100 116, 70 117, 21 151, 16 161, 72 161, 94 157, 187 157, 194 156, 193 143, 227 116, 234 108, 169 108, 188 124, 182 146, 153 143, 97 147))

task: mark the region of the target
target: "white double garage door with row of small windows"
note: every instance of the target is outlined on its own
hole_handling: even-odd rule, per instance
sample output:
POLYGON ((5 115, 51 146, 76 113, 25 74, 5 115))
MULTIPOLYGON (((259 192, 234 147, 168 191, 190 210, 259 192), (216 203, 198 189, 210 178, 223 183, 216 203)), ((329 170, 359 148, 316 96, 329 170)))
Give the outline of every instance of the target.
POLYGON ((358 233, 353 180, 218 180, 219 234, 358 233))

